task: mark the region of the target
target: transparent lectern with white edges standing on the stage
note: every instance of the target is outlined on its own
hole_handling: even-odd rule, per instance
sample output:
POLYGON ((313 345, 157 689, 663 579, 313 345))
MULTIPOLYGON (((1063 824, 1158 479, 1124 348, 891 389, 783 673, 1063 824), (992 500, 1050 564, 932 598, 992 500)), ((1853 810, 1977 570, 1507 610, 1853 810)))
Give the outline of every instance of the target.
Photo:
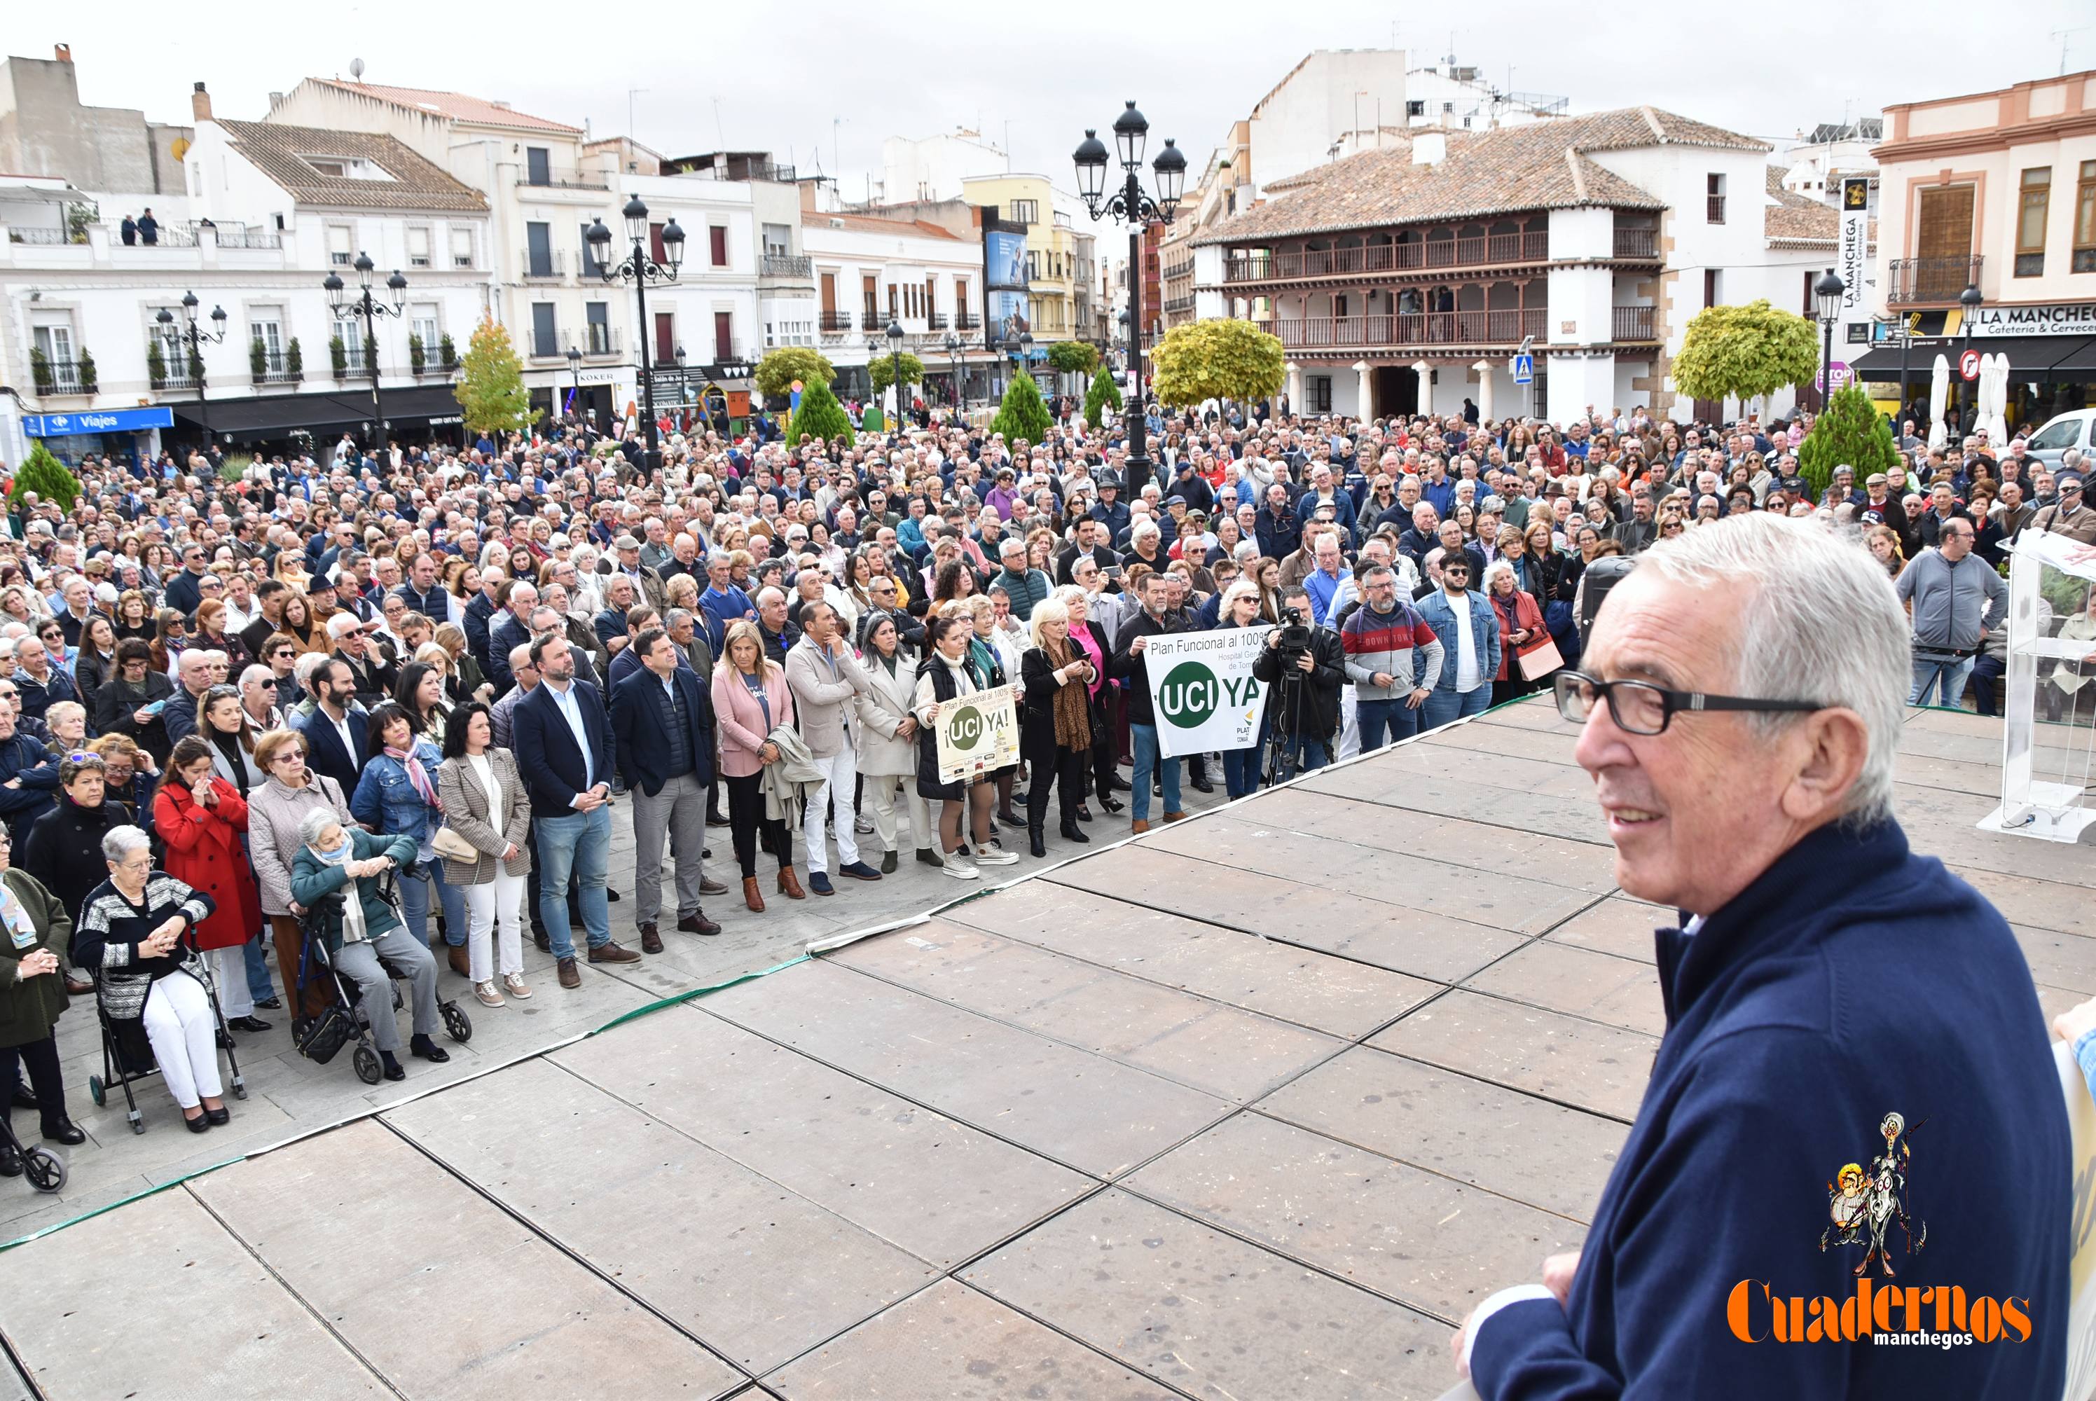
POLYGON ((2023 531, 2008 566, 2002 805, 1981 826, 2077 841, 2096 822, 2096 545, 2023 531))

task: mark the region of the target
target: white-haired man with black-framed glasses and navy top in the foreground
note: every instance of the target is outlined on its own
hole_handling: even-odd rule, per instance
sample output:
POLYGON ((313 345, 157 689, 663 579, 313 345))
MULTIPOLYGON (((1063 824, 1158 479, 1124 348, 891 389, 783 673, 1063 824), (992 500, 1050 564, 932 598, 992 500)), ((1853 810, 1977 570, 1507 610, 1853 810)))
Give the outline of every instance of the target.
POLYGON ((1616 883, 1683 927, 1585 1248, 1453 1340, 1486 1401, 2060 1395, 2060 1080, 2002 914, 1893 818, 1905 692, 1884 570, 1769 512, 1645 552, 1557 675, 1616 883))

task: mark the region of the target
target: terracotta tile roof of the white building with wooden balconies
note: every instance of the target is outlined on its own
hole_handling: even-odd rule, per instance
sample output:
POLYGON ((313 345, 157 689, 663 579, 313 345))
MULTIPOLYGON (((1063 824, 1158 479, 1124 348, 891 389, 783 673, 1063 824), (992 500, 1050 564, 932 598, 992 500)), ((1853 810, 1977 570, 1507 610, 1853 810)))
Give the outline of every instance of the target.
POLYGON ((1266 193, 1285 197, 1253 206, 1195 241, 1239 243, 1576 206, 1660 210, 1660 199, 1585 155, 1656 145, 1769 149, 1765 141, 1656 107, 1553 117, 1488 132, 1411 130, 1388 136, 1381 149, 1272 180, 1266 193), (1415 166, 1413 143, 1425 134, 1444 136, 1448 151, 1432 166, 1415 166))

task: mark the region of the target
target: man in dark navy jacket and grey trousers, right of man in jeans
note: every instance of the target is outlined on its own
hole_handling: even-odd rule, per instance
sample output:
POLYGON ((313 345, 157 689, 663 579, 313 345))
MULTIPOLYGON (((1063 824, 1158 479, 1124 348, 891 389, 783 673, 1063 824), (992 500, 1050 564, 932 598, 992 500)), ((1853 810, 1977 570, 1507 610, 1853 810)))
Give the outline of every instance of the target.
POLYGON ((683 652, 660 627, 643 627, 623 656, 637 665, 612 686, 612 738, 633 797, 633 919, 641 952, 662 952, 656 914, 662 910, 662 835, 677 860, 677 927, 719 933, 698 908, 702 893, 727 893, 706 883, 706 789, 713 784, 713 696, 683 665, 683 652))

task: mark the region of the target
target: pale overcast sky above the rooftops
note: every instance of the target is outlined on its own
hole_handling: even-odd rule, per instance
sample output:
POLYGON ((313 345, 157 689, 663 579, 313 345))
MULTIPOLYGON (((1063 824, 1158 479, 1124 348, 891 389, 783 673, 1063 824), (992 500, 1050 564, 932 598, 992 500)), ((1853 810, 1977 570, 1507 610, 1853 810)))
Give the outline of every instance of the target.
POLYGON ((1511 65, 1515 90, 1570 96, 1574 111, 1654 105, 1767 138, 1844 111, 2044 78, 2060 71, 2062 44, 2069 69, 2096 67, 2088 0, 1874 8, 1501 0, 1432 6, 1434 19, 1425 8, 103 0, 78 13, 17 4, 6 44, 48 59, 52 42, 69 42, 82 101, 143 107, 166 122, 189 120, 197 80, 210 84, 218 115, 260 117, 270 90, 304 76, 348 78, 352 59, 365 61, 367 82, 501 99, 543 117, 587 120, 597 136, 629 130, 629 88, 641 88, 631 94, 641 143, 664 153, 769 149, 801 170, 843 170, 847 197, 864 191, 870 170, 878 174, 882 136, 956 126, 1000 145, 1010 132, 1017 170, 1069 187, 1084 128, 1107 128, 1130 96, 1151 120, 1153 151, 1176 136, 1199 172, 1228 124, 1312 48, 1398 46, 1421 65, 1453 44, 1488 80, 1507 84, 1511 65), (633 17, 654 15, 662 19, 643 19, 648 31, 629 38, 633 17), (1463 25, 1465 15, 1478 19, 1463 25))

